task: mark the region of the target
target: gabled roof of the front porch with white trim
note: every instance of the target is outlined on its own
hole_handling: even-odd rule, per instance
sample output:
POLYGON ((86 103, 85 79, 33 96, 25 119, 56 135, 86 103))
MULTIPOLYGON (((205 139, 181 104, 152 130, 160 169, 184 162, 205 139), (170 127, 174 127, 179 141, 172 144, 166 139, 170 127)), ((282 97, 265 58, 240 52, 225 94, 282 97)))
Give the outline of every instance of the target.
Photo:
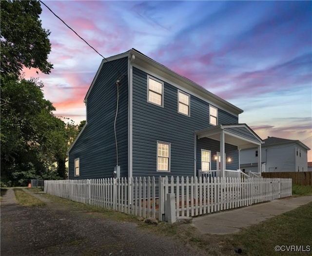
POLYGON ((263 140, 245 123, 220 124, 204 130, 195 131, 197 138, 212 138, 220 141, 220 134, 224 133, 224 142, 235 145, 239 149, 252 148, 261 145, 263 140))

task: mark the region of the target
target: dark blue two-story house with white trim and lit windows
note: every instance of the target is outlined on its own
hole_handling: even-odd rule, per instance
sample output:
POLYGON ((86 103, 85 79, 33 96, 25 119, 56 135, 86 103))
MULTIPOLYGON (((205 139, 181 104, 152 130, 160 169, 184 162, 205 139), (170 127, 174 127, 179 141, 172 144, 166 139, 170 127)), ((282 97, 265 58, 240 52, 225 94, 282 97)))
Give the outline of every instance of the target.
POLYGON ((224 176, 239 169, 239 149, 261 152, 261 138, 238 124, 240 108, 135 49, 102 61, 84 102, 70 179, 224 176))

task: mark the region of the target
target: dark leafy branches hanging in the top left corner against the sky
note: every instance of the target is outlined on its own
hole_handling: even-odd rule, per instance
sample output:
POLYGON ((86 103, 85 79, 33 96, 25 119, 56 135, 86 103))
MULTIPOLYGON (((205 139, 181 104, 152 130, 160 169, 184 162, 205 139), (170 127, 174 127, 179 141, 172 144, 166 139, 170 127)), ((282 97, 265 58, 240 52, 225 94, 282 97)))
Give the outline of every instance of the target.
POLYGON ((51 72, 53 65, 47 61, 50 32, 41 27, 41 11, 39 1, 1 1, 1 77, 17 78, 23 66, 51 72))

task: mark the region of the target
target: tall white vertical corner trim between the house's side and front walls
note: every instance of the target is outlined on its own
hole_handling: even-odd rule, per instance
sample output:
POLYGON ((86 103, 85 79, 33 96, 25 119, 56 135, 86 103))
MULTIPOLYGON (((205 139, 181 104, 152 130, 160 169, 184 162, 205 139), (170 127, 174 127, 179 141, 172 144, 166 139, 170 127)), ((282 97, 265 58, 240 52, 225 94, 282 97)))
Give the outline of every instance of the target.
POLYGON ((132 61, 135 58, 130 55, 128 58, 128 177, 133 176, 133 68, 132 61))

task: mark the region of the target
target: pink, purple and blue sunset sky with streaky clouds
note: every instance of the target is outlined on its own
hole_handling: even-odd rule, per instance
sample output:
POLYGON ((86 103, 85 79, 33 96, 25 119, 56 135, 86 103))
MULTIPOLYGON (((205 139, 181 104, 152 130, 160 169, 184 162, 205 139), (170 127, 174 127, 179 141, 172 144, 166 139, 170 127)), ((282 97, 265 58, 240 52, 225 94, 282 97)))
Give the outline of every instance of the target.
MULTIPOLYGON (((312 148, 311 1, 43 1, 104 57, 136 48, 243 109, 239 122, 262 139, 312 148)), ((54 69, 26 78, 78 124, 102 58, 41 8, 54 69)))

